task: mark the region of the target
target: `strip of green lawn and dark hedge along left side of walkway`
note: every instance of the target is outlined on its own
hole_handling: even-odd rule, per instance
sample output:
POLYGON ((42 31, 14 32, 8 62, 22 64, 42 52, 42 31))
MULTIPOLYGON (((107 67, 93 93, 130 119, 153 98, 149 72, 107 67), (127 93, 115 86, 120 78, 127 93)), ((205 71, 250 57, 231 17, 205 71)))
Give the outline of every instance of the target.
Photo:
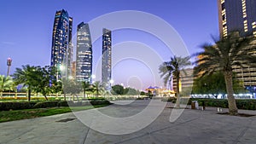
POLYGON ((110 104, 105 99, 88 99, 87 101, 0 101, 0 123, 107 107, 110 104))

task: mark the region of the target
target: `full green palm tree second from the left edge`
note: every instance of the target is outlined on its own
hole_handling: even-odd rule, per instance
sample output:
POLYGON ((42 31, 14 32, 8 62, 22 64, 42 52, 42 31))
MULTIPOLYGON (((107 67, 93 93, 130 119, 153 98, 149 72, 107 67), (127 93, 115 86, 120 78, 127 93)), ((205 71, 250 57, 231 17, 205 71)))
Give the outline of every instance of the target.
POLYGON ((13 74, 13 79, 15 84, 23 84, 28 89, 28 97, 27 100, 31 99, 31 92, 33 87, 40 81, 38 78, 38 66, 22 66, 21 68, 16 68, 15 73, 13 74))

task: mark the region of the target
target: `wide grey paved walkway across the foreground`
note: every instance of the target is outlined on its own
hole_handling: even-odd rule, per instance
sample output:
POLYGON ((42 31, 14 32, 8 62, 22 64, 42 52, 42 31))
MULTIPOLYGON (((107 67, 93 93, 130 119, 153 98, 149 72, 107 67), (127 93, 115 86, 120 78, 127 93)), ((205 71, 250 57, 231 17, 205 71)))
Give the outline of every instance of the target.
MULTIPOLYGON (((125 118, 146 109, 148 101, 130 105, 112 105, 98 109, 110 117, 125 118)), ((170 107, 170 104, 168 104, 170 107)), ((223 111, 227 111, 224 109, 223 111)), ((87 112, 93 112, 88 110, 87 112)), ((173 123, 172 108, 165 108, 160 116, 143 130, 125 135, 109 135, 85 126, 73 113, 44 118, 32 118, 0 124, 1 144, 255 144, 256 116, 242 118, 219 115, 216 107, 206 111, 185 109, 173 123), (67 119, 69 118, 69 119, 67 119), (73 119, 74 118, 74 119, 73 119), (66 120, 66 122, 65 122, 66 120), (62 121, 62 122, 61 122, 62 121)), ((256 114, 255 111, 240 111, 256 114)), ((76 113, 77 114, 77 113, 76 113)), ((89 115, 88 115, 89 116, 89 115)), ((90 116, 91 117, 91 116, 90 116)), ((101 119, 100 119, 101 120, 101 119)), ((103 119, 102 119, 103 120, 103 119)), ((99 121, 99 120, 98 120, 99 121)), ((100 125, 100 122, 97 124, 100 125)), ((129 128, 127 128, 128 130, 129 128)))

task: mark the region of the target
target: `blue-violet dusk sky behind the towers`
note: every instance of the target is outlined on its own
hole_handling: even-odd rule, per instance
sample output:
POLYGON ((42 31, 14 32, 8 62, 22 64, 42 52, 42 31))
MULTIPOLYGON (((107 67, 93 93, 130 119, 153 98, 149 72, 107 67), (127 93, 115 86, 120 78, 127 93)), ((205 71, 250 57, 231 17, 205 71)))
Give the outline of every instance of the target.
MULTIPOLYGON (((0 1, 0 74, 6 75, 9 57, 13 59, 10 74, 16 67, 26 64, 49 65, 55 12, 61 9, 66 9, 73 17, 74 45, 80 22, 91 22, 104 14, 124 10, 140 11, 146 18, 150 17, 147 14, 152 14, 161 22, 165 21, 180 36, 189 54, 200 51, 201 44, 211 43, 211 35, 219 35, 217 0, 3 0, 0 1)), ((106 28, 121 22, 119 19, 106 21, 106 28)), ((152 27, 152 31, 165 31, 157 23, 132 22, 152 27)), ((101 25, 104 24, 103 21, 101 25)), ((90 31, 93 33, 94 29, 90 31)), ((116 29, 112 35, 114 84, 137 89, 164 86, 155 72, 160 63, 170 60, 173 54, 160 37, 129 27, 116 29)), ((170 37, 170 43, 176 43, 175 38, 170 37)), ((93 73, 96 74, 93 80, 96 81, 101 79, 101 37, 94 41, 92 49, 93 73)))

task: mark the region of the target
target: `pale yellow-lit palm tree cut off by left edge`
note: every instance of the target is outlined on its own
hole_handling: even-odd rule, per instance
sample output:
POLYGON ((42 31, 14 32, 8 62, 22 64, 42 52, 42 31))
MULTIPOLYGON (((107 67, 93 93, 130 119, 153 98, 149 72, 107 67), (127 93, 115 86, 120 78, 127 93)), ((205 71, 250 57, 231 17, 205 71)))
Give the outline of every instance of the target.
POLYGON ((7 76, 5 77, 4 75, 0 75, 0 96, 3 96, 3 91, 4 90, 10 90, 12 89, 13 86, 13 80, 11 77, 7 76))

